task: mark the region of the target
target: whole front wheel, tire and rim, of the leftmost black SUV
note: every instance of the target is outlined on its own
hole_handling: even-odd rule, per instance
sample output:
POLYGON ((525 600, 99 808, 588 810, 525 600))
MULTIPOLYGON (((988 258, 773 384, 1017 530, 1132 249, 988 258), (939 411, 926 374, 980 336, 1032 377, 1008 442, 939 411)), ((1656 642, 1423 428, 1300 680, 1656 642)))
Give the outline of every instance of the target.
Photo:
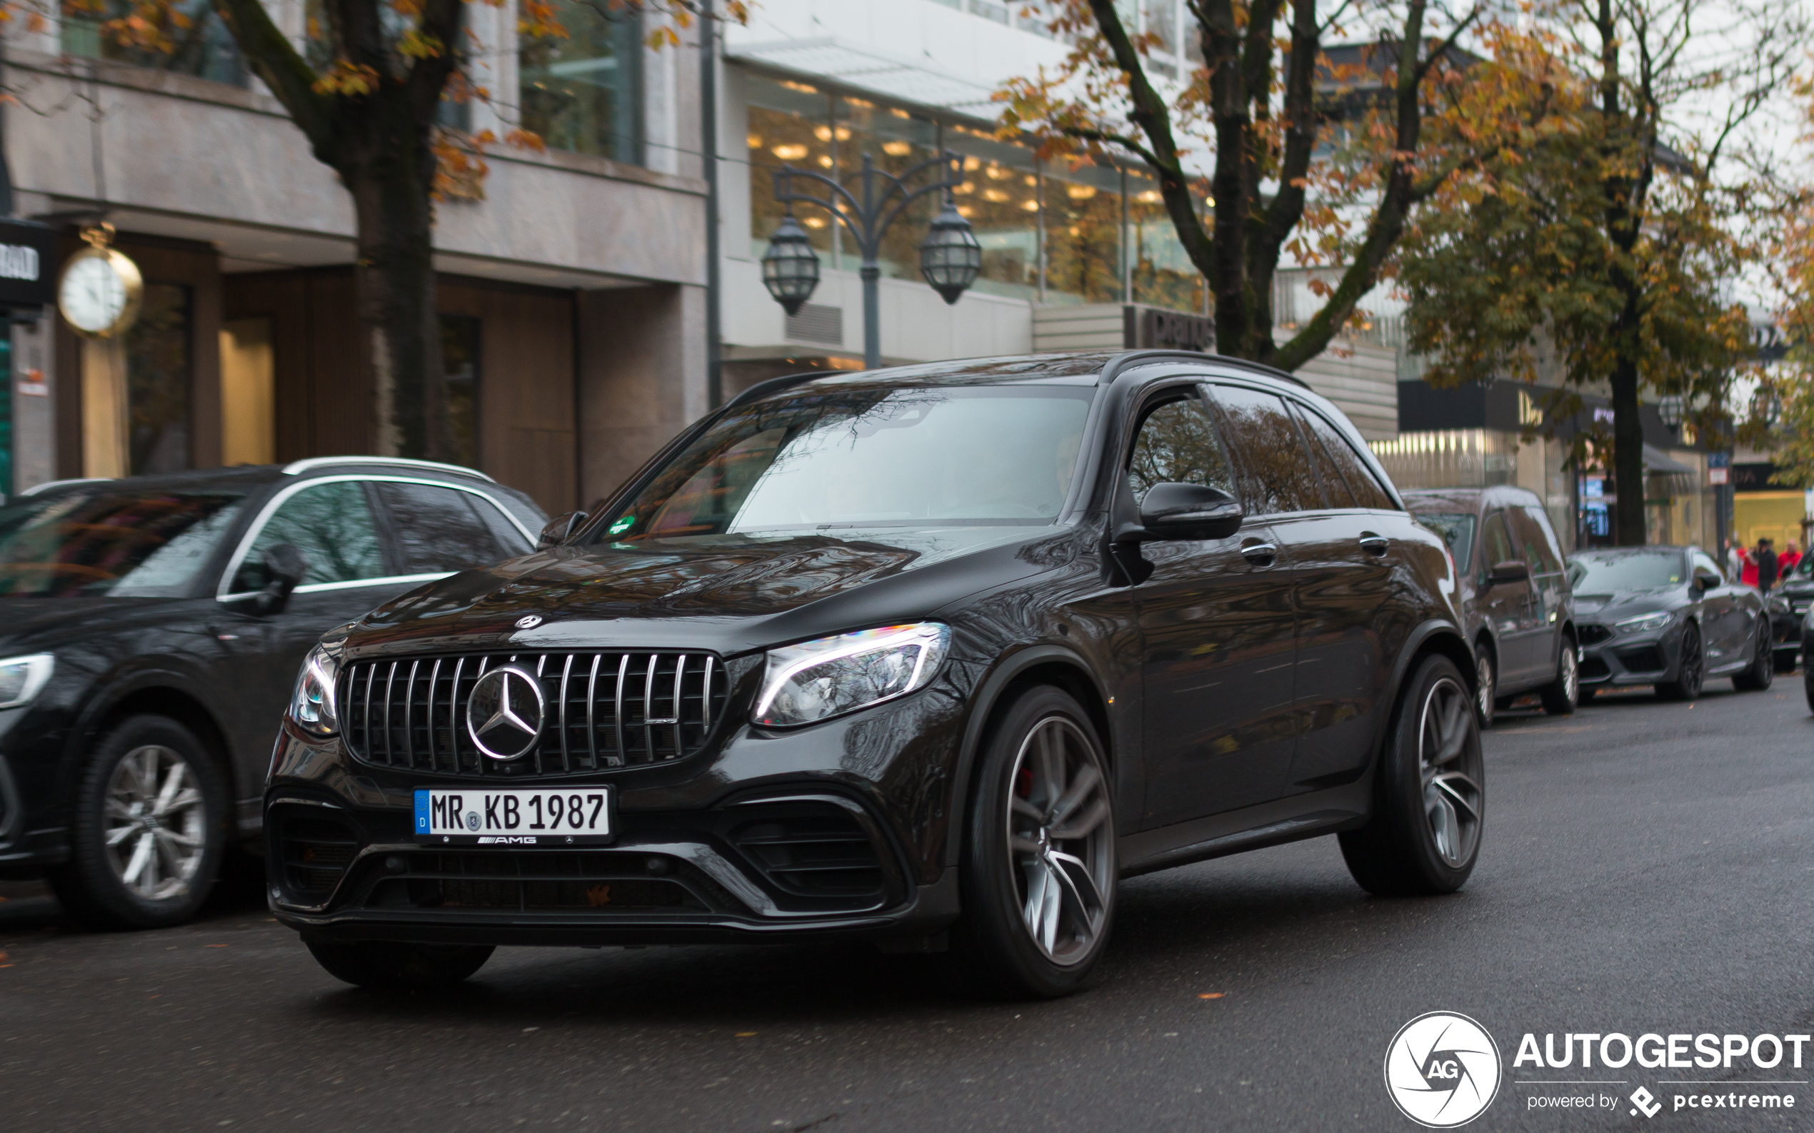
POLYGON ((89 750, 69 861, 51 886, 96 928, 169 928, 201 908, 227 850, 227 776, 181 723, 129 716, 89 750))

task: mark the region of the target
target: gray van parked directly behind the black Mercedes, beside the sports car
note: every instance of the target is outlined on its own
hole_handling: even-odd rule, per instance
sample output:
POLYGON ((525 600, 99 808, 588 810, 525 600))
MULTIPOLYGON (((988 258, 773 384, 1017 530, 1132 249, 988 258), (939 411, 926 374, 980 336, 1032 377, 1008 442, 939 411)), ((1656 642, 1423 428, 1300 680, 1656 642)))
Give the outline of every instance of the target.
POLYGON ((1544 502, 1524 488, 1400 495, 1455 555, 1480 727, 1491 727, 1493 712, 1526 692, 1540 692, 1549 714, 1573 712, 1580 700, 1575 595, 1544 502))

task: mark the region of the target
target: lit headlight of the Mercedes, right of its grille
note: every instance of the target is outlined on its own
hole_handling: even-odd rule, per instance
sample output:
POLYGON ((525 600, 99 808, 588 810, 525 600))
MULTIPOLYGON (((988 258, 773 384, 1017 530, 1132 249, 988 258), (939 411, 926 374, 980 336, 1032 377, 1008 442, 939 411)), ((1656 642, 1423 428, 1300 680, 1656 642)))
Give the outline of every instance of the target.
POLYGON ((883 625, 769 649, 755 721, 796 727, 925 687, 945 660, 951 627, 883 625))

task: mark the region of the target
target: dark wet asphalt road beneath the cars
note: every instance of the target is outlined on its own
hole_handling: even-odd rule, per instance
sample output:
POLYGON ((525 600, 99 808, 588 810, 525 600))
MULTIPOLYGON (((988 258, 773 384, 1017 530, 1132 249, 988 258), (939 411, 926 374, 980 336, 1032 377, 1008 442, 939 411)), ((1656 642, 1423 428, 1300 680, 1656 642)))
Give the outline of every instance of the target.
POLYGON ((1096 986, 1041 1004, 978 1001, 938 957, 802 946, 510 948, 454 993, 386 999, 323 973, 247 885, 118 935, 15 885, 0 1128, 1415 1129, 1382 1059, 1448 1010, 1506 1066, 1471 1129, 1814 1129, 1814 1050, 1769 1073, 1511 1066, 1526 1031, 1814 1031, 1799 676, 1511 714, 1486 754, 1462 894, 1368 897, 1333 839, 1141 877, 1096 986), (1673 1111, 1669 1089, 1716 1086, 1660 1079, 1798 1109, 1673 1111), (1792 1084, 1738 1084, 1756 1079, 1792 1084), (1654 1120, 1624 1102, 1636 1086, 1654 1120), (1531 1109, 1598 1091, 1618 1106, 1531 1109))

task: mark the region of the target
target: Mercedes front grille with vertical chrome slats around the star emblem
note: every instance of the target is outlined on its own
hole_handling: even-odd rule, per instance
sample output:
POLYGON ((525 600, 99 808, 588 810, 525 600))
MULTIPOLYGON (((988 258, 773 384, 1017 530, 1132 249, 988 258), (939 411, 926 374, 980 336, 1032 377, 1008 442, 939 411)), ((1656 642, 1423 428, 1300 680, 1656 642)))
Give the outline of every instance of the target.
POLYGON ((493 653, 354 662, 341 734, 354 758, 424 774, 535 778, 691 756, 724 714, 724 665, 709 653, 493 653), (466 729, 479 676, 517 663, 542 687, 542 736, 492 760, 466 729))

